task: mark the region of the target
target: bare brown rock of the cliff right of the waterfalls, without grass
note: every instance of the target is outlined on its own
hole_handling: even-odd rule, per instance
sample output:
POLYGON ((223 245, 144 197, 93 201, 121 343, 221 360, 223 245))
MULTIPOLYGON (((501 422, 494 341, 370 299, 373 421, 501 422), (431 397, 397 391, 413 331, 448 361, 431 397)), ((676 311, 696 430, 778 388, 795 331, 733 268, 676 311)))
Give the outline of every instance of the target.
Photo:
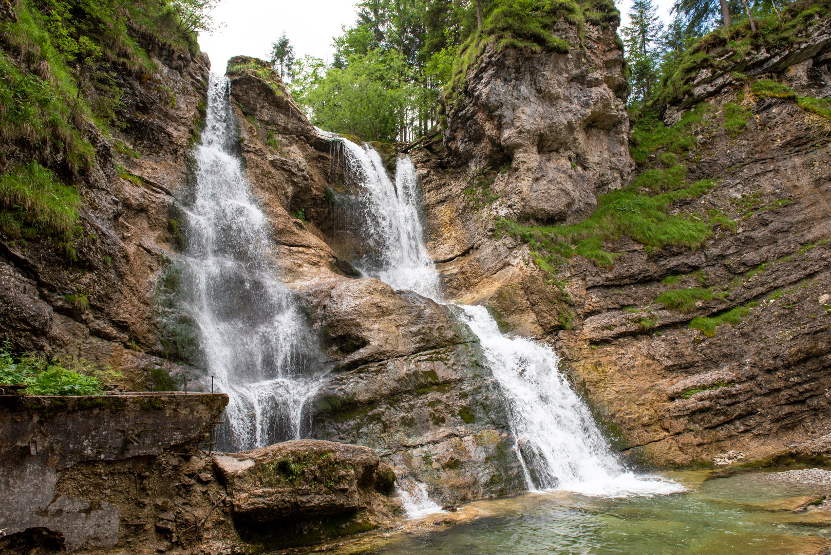
MULTIPOLYGON (((614 175, 616 185, 628 185, 644 169, 660 167, 657 156, 665 150, 652 152, 644 169, 627 176, 622 101, 614 103, 614 87, 602 70, 594 88, 574 79, 578 57, 534 55, 536 64, 526 65, 519 52, 486 52, 488 65, 470 70, 466 96, 450 111, 446 148, 428 145, 413 153, 425 191, 428 246, 448 295, 487 305, 506 330, 553 344, 573 384, 632 460, 708 464, 730 450, 746 453, 748 460, 774 453, 784 460, 783 448, 828 433, 831 127, 824 116, 800 108, 795 96, 755 95, 752 79, 740 77, 745 71, 754 79, 778 80, 798 95, 826 97, 825 27, 815 25, 782 51, 762 49, 735 66, 701 69, 693 74, 689 95, 666 110, 671 125, 697 102, 710 103, 710 115, 694 130, 697 146, 683 162, 689 182, 715 181, 703 196, 675 201, 670 213, 692 218, 718 211, 736 221, 735 232, 715 225, 711 239, 696 250, 647 250, 624 237, 604 245, 616 253, 611 266, 575 255, 549 273, 531 262, 528 245, 499 231, 499 218, 582 221, 594 206, 588 201, 583 210, 569 200, 579 195, 552 186, 546 206, 563 202, 568 208, 538 216, 541 205, 529 195, 529 185, 541 174, 529 177, 525 170, 529 159, 537 168, 548 155, 530 147, 536 139, 514 137, 534 137, 533 130, 543 136, 559 126, 561 141, 588 150, 583 160, 603 161, 581 166, 575 160, 575 172, 597 170, 585 183, 609 183, 607 176, 614 175), (559 72, 551 72, 555 67, 559 72), (535 96, 540 86, 527 84, 543 76, 557 94, 535 96), (584 92, 585 104, 575 90, 584 92), (523 97, 529 101, 517 100, 523 97), (571 107, 563 106, 567 99, 571 107), (733 104, 725 107, 728 102, 733 104), (735 105, 749 112, 737 134, 724 125, 726 110, 735 105), (590 113, 588 106, 602 115, 573 121, 617 122, 606 127, 602 141, 584 141, 586 126, 560 124, 568 114, 590 113), (548 116, 539 118, 541 113, 548 116), (471 171, 509 160, 513 165, 504 171, 471 171), (456 166, 459 161, 465 165, 456 166), (719 295, 686 312, 656 300, 666 291, 695 287, 719 295), (732 309, 744 318, 718 326, 715 334, 689 327, 693 318, 732 309)), ((729 59, 728 46, 712 48, 712 59, 729 59)), ((597 126, 588 128, 600 136, 597 126)), ((559 175, 570 175, 568 164, 562 167, 559 175)), ((581 191, 588 198, 604 189, 581 191)))

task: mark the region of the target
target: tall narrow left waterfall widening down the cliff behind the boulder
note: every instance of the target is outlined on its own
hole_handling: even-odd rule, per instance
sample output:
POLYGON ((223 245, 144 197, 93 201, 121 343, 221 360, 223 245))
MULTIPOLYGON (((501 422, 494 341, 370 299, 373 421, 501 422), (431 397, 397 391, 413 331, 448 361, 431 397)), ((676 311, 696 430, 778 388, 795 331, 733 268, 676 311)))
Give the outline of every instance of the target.
POLYGON ((302 434, 322 367, 317 344, 269 255, 268 221, 248 193, 226 77, 211 74, 182 285, 207 369, 229 395, 219 448, 263 447, 302 434))

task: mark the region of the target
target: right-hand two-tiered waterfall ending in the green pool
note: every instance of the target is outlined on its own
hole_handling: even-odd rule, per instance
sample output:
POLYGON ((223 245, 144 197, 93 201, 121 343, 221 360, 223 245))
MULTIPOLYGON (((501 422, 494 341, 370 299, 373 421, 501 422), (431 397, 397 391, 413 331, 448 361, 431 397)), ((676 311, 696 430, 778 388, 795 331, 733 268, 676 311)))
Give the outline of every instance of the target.
MULTIPOLYGON (((377 152, 343 140, 350 168, 366 191, 366 230, 378 254, 361 268, 393 286, 440 300, 440 284, 427 255, 418 217, 416 171, 398 158, 393 183, 377 152)), ((586 404, 558 370, 553 349, 501 334, 483 306, 460 306, 461 318, 479 337, 507 405, 514 449, 531 490, 561 488, 586 495, 672 493, 680 485, 636 477, 612 454, 586 404)), ((411 498, 413 491, 408 493, 411 498)), ((417 509, 416 509, 417 510, 417 509)))

